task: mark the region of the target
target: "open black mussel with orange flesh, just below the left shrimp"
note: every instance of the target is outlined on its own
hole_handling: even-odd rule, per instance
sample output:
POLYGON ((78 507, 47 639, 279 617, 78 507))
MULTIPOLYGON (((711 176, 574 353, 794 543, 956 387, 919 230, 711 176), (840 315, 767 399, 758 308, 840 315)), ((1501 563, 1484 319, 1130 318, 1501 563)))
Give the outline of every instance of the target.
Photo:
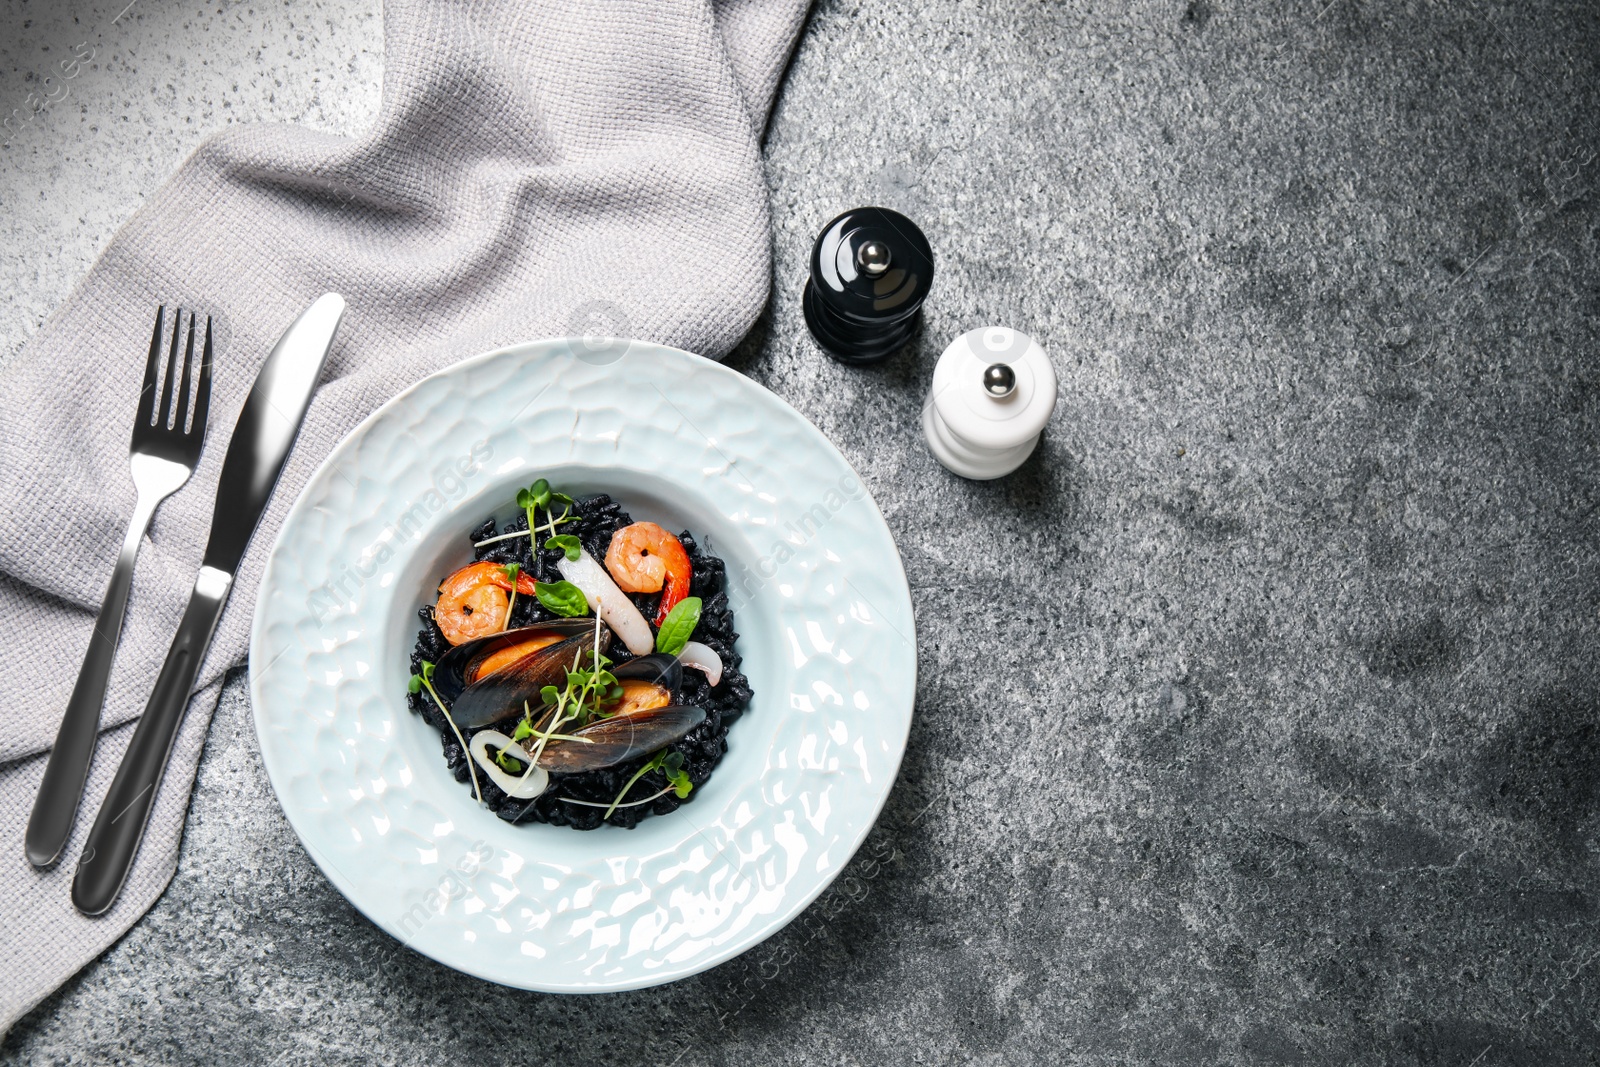
MULTIPOLYGON (((520 715, 523 702, 538 707, 539 689, 562 686, 570 669, 590 665, 595 632, 594 619, 558 619, 469 641, 440 659, 434 685, 451 702, 458 726, 486 726, 520 715)), ((603 654, 611 630, 602 624, 598 637, 603 654)))

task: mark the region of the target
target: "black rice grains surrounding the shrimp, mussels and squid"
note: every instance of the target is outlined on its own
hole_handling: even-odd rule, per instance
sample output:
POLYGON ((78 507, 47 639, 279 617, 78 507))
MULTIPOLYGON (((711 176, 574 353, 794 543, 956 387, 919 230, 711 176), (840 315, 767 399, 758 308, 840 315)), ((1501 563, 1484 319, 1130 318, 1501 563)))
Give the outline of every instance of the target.
MULTIPOLYGON (((611 544, 611 536, 622 526, 634 522, 629 514, 622 510, 621 504, 603 493, 578 499, 573 504, 573 515, 578 522, 562 526, 562 533, 576 534, 584 549, 595 560, 603 560, 606 549, 611 544)), ((518 515, 501 530, 494 528, 494 520, 485 522, 470 534, 470 541, 475 545, 474 560, 501 565, 517 563, 523 568, 523 573, 530 574, 536 581, 560 581, 562 574, 557 569, 557 560, 562 558, 560 549, 539 547, 534 550, 528 537, 510 537, 477 547, 478 541, 493 537, 498 533, 504 534, 525 530, 528 530, 526 515, 518 515)), ((678 541, 683 544, 683 550, 688 553, 690 563, 693 565, 690 595, 699 597, 702 601, 699 625, 694 629, 694 640, 715 649, 723 664, 722 680, 715 688, 709 685, 709 680, 701 672, 683 672, 683 686, 678 694, 678 702, 704 709, 706 721, 691 729, 682 741, 669 745, 667 750, 682 753, 683 769, 688 773, 694 789, 683 800, 680 800, 674 792, 667 792, 650 805, 632 808, 619 806, 610 817, 606 817, 603 806, 568 803, 566 798, 590 801, 590 805, 611 803, 624 784, 627 784, 627 781, 650 761, 650 755, 598 771, 550 774, 549 789, 533 800, 512 798, 494 785, 494 782, 486 776, 478 774, 478 787, 483 790, 483 801, 501 819, 507 822, 549 822, 554 825, 570 825, 576 830, 594 830, 602 822, 632 829, 646 816, 667 814, 675 811, 680 805, 691 803, 694 797, 699 795, 699 787, 704 785, 704 782, 710 779, 712 771, 717 769, 722 757, 728 752, 728 728, 739 718, 739 715, 744 713, 750 702, 750 686, 749 680, 739 672, 739 654, 734 651, 734 641, 739 635, 733 629, 733 611, 728 606, 728 595, 725 589, 726 573, 723 561, 709 552, 702 552, 688 531, 680 533, 678 541)), ((646 619, 653 619, 661 595, 662 593, 629 593, 629 598, 635 606, 638 606, 640 613, 646 619)), ((426 606, 418 614, 422 619, 422 627, 418 630, 416 648, 411 651, 413 672, 422 670, 422 661, 437 664, 451 648, 450 641, 445 640, 445 635, 434 622, 434 608, 426 606)), ((533 625, 555 617, 557 616, 539 603, 538 598, 517 597, 512 608, 510 627, 533 625)), ((632 659, 632 654, 621 641, 613 641, 611 649, 606 654, 611 657, 614 665, 632 659)), ((421 715, 434 729, 438 731, 445 765, 450 768, 451 774, 456 776, 456 781, 462 782, 466 789, 470 790, 470 773, 467 768, 467 760, 470 757, 462 752, 461 744, 456 741, 450 723, 445 721, 443 713, 427 697, 427 693, 410 693, 406 699, 411 710, 416 715, 421 715)), ((493 726, 483 726, 478 729, 493 729, 493 726)), ((464 736, 469 744, 472 741, 472 734, 478 733, 478 729, 464 729, 464 736)), ((650 771, 634 785, 629 795, 648 797, 666 787, 666 784, 667 779, 661 771, 650 771)))

